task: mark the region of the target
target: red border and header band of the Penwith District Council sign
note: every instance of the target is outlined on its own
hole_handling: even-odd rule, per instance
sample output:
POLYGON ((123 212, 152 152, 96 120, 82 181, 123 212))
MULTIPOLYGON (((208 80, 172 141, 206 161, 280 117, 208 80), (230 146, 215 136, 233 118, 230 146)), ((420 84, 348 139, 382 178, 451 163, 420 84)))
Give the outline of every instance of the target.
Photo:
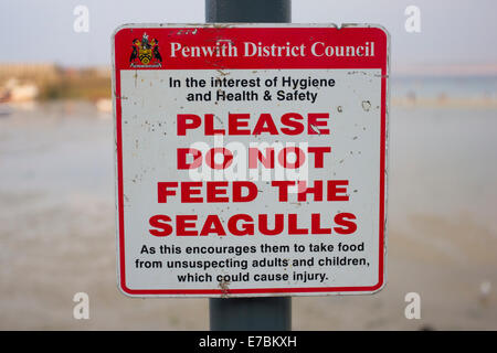
MULTIPOLYGON (((201 40, 205 40, 205 35, 201 36, 201 40)), ((211 39, 212 41, 212 39, 211 39)), ((165 41, 161 41, 162 43, 165 41)), ((387 149, 387 77, 388 77, 388 52, 389 52, 389 38, 388 33, 377 26, 351 26, 345 29, 336 29, 336 28, 319 28, 319 26, 310 26, 310 28, 299 28, 299 26, 290 26, 290 28, 260 28, 260 26, 247 26, 247 28, 123 28, 119 29, 114 35, 114 53, 115 57, 115 127, 116 127, 116 162, 117 162, 117 199, 118 199, 118 259, 119 259, 119 288, 127 295, 130 296, 175 296, 175 295, 183 295, 183 296, 201 296, 201 295, 210 295, 210 296, 225 296, 225 295, 278 295, 278 293, 320 293, 320 292, 372 292, 380 290, 384 284, 384 212, 385 212, 385 149, 387 149), (137 32, 142 33, 147 31, 148 33, 159 35, 161 33, 161 38, 170 38, 173 34, 177 34, 180 31, 192 31, 197 30, 197 33, 205 33, 205 35, 215 38, 226 36, 231 38, 231 35, 240 36, 240 33, 243 33, 246 38, 247 32, 255 32, 255 34, 264 35, 262 38, 257 38, 257 40, 267 40, 268 38, 274 38, 271 34, 276 34, 281 39, 285 39, 287 41, 288 38, 295 36, 304 36, 311 38, 313 34, 315 36, 321 36, 325 40, 332 39, 335 44, 337 39, 340 36, 345 36, 346 40, 352 40, 364 42, 366 39, 376 40, 377 44, 380 44, 376 47, 378 53, 378 57, 374 60, 364 60, 364 58, 355 58, 355 62, 351 63, 351 60, 337 60, 330 62, 329 60, 324 62, 322 60, 313 62, 309 60, 286 60, 285 65, 279 65, 279 67, 275 67, 278 65, 275 61, 269 60, 265 61, 263 64, 263 68, 381 68, 382 78, 381 78, 381 149, 380 149, 380 220, 379 220, 379 275, 378 275, 378 284, 369 287, 309 287, 309 288, 252 288, 252 289, 130 289, 126 286, 126 261, 125 261, 125 231, 124 231, 124 186, 123 186, 123 137, 121 137, 121 105, 120 105, 120 69, 129 69, 129 64, 127 62, 127 52, 129 51, 130 38, 137 35, 137 32), (242 32, 241 32, 242 31, 242 32), (366 31, 366 33, 364 33, 366 31), (133 33, 135 32, 135 33, 133 33), (231 32, 231 33, 230 33, 231 32), (271 32, 271 33, 269 33, 271 32), (314 33, 311 33, 314 32, 314 33), (126 60, 123 60, 125 57, 126 60), (359 63, 358 63, 359 62, 359 63), (360 65, 360 66, 358 66, 360 65), (282 67, 284 66, 284 67, 282 67)), ((350 45, 350 44, 349 44, 350 45)), ((162 54, 162 56, 165 56, 162 54)), ((282 64, 282 63, 279 63, 282 64)), ((228 62, 219 60, 216 62, 193 62, 186 63, 184 60, 180 63, 181 67, 173 67, 175 69, 195 69, 195 68, 262 68, 261 62, 242 62, 236 61, 228 62), (187 66, 188 65, 188 66, 187 66)), ((162 68, 171 68, 170 66, 166 66, 162 68)), ((145 69, 161 69, 161 68, 145 68, 145 69)))

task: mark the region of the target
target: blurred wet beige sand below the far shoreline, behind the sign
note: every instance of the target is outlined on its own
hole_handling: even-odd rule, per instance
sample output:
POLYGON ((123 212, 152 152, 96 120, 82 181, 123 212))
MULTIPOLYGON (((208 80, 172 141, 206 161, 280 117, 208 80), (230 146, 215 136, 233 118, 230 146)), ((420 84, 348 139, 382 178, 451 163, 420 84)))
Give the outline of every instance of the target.
MULTIPOLYGON (((295 330, 497 330, 497 110, 393 106, 388 284, 293 299, 295 330), (489 282, 483 296, 480 286, 489 282), (421 320, 404 317, 420 293, 421 320)), ((207 330, 207 299, 116 286, 113 122, 89 104, 0 117, 0 329, 207 330), (91 319, 73 319, 74 293, 91 319)))

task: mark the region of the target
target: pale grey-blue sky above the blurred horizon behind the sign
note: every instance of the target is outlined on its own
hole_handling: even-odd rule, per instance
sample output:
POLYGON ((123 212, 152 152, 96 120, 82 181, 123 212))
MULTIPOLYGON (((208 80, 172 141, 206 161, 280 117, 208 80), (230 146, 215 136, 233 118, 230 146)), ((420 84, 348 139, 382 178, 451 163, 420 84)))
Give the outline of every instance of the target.
MULTIPOLYGON (((495 0, 293 0, 292 22, 382 24, 391 34, 396 72, 497 73, 496 13, 495 0), (405 30, 409 6, 420 9, 419 33, 405 30)), ((109 65, 114 29, 136 22, 202 23, 204 0, 1 0, 0 63, 109 65), (88 9, 88 32, 73 29, 77 6, 88 9)))

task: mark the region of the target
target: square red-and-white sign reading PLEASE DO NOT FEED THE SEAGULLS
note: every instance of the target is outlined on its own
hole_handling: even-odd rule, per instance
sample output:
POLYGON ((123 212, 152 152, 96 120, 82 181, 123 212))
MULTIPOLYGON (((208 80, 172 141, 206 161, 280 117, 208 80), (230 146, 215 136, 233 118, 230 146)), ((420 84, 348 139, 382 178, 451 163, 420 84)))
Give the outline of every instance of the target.
POLYGON ((382 288, 382 28, 133 24, 113 51, 124 293, 382 288))

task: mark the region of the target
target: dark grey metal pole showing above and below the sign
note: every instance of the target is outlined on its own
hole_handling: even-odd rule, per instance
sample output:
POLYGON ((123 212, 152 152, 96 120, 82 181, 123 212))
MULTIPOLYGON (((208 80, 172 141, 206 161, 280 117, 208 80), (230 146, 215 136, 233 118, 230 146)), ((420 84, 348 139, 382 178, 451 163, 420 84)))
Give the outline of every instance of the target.
MULTIPOLYGON (((292 21, 292 0, 205 0, 205 22, 292 21)), ((292 298, 215 298, 209 300, 211 331, 289 331, 292 298)))

